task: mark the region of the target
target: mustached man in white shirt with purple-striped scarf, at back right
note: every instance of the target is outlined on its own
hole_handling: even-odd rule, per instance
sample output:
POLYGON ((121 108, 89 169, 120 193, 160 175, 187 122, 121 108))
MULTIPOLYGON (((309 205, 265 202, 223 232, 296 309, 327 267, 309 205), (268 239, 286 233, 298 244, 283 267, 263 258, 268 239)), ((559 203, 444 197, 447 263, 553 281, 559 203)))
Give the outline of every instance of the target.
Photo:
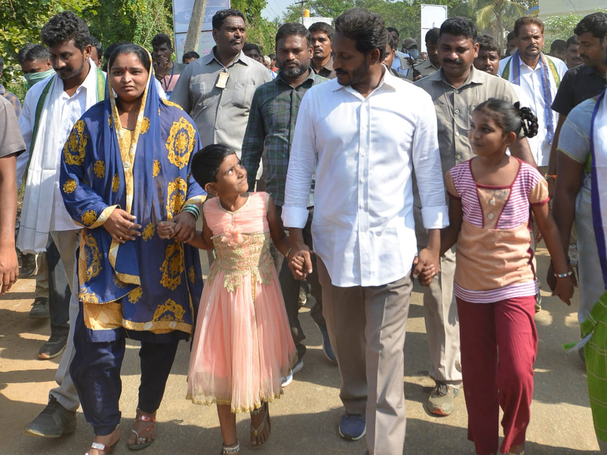
POLYGON ((529 139, 529 146, 538 169, 546 174, 558 121, 558 113, 551 108, 552 101, 567 66, 561 59, 541 52, 544 24, 534 16, 517 19, 514 23, 514 40, 517 50, 500 60, 499 74, 521 87, 521 106, 529 106, 537 116, 538 133, 529 139))

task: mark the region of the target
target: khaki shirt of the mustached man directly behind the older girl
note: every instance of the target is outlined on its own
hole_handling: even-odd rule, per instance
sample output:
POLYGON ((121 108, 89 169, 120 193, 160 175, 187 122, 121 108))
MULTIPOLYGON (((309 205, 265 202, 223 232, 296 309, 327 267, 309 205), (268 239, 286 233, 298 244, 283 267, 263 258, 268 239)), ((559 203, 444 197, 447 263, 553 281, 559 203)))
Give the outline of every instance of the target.
POLYGON ((518 101, 518 96, 508 81, 474 67, 466 82, 458 89, 447 82, 443 69, 419 79, 415 85, 426 90, 434 101, 443 175, 456 164, 474 156, 468 140, 468 130, 476 106, 489 98, 505 99, 512 104, 518 101))

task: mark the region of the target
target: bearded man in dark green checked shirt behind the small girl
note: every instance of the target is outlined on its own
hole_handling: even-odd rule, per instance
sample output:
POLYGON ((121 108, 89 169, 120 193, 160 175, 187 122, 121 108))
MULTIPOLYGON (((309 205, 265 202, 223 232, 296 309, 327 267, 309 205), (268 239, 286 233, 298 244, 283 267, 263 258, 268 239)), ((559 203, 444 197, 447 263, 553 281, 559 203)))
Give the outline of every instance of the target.
MULTIPOLYGON (((279 216, 285 201, 287 168, 301 99, 310 87, 327 80, 310 69, 312 52, 310 32, 304 25, 288 23, 280 27, 276 33, 276 64, 280 71, 274 81, 263 84, 256 90, 242 144, 242 164, 248 173, 251 188, 255 184, 255 176, 265 144, 266 153, 263 163, 267 169, 266 191, 272 194, 279 216)), ((310 194, 310 215, 304 229, 304 240, 310 248, 312 248, 310 227, 314 212, 313 204, 313 194, 310 194)), ((311 294, 316 299, 310 313, 322 334, 325 356, 331 362, 335 362, 327 325, 322 316, 322 293, 314 264, 313 268, 314 272, 307 278, 312 288, 311 294)), ((287 307, 291 334, 299 356, 293 367, 293 372, 297 372, 304 366, 302 357, 306 351, 302 344, 305 335, 298 319, 299 281, 293 278, 286 262, 283 263, 279 280, 287 307)))

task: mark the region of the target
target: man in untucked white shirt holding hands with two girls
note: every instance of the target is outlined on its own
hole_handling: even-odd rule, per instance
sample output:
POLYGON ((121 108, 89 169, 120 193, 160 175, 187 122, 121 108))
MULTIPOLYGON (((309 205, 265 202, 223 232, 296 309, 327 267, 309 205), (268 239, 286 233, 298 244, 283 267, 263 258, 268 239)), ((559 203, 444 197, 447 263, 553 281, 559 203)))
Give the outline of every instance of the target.
POLYGON ((337 78, 311 87, 302 99, 282 217, 290 227, 290 263, 307 255, 309 272, 302 228, 316 168, 312 235, 341 374, 339 433, 356 440, 366 431, 370 455, 393 455, 402 453, 405 439, 402 348, 416 256, 413 169, 430 233, 416 271, 438 270, 439 230, 448 224, 436 115, 427 93, 381 64, 388 39, 381 16, 354 8, 335 27, 337 78))

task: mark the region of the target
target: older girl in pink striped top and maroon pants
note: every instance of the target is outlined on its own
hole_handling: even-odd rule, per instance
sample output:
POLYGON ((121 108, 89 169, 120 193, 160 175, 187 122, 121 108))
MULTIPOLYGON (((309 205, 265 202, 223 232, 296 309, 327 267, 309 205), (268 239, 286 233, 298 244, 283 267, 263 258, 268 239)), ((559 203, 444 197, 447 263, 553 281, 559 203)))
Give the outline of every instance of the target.
POLYGON ((457 243, 454 290, 468 439, 478 455, 497 453, 500 406, 500 452, 524 454, 537 353, 530 208, 557 271, 554 295, 569 305, 575 285, 549 213, 546 180, 506 153, 521 127, 527 137, 537 134, 528 108, 494 98, 480 104, 468 133, 476 157, 445 177, 450 226, 441 235, 441 254, 457 243))

